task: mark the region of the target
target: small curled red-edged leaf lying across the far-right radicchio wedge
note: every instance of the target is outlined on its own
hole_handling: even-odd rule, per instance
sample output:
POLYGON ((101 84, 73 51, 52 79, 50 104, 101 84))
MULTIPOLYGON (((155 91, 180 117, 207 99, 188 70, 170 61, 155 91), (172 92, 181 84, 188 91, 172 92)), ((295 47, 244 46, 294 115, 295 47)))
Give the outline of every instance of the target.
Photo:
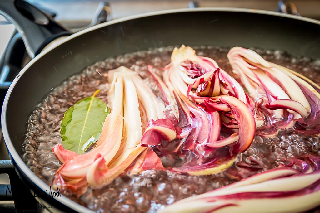
POLYGON ((266 108, 269 110, 292 110, 299 113, 304 118, 308 116, 306 108, 301 103, 293 100, 275 100, 266 104, 266 108))

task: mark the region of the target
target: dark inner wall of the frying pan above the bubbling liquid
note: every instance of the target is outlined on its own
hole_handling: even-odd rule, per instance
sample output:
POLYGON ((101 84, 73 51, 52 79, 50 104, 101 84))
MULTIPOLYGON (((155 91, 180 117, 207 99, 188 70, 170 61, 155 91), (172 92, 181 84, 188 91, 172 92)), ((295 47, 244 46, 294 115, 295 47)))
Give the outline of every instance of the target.
MULTIPOLYGON (((318 24, 299 19, 214 10, 160 14, 101 25, 52 49, 19 74, 4 103, 6 143, 12 142, 20 156, 26 120, 36 103, 68 76, 105 58, 183 43, 193 47, 279 49, 316 59, 320 57, 319 33, 318 24)), ((14 150, 10 152, 19 161, 14 150)))

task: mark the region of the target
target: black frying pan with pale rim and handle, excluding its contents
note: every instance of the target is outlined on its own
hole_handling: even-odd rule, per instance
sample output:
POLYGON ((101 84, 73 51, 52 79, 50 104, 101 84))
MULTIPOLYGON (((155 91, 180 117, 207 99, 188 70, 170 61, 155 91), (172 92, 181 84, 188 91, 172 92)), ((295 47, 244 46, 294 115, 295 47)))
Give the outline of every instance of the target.
POLYGON ((29 55, 35 56, 12 82, 5 97, 1 115, 4 140, 20 179, 39 195, 36 199, 42 205, 55 207, 49 208, 52 212, 90 210, 64 196, 50 197, 49 186, 22 161, 21 143, 28 114, 68 76, 107 57, 181 44, 280 49, 294 56, 320 58, 320 22, 277 12, 236 8, 168 10, 109 21, 65 37, 70 33, 64 27, 25 1, 2 0, 0 10, 17 26, 29 55), (50 42, 50 47, 41 52, 50 42))

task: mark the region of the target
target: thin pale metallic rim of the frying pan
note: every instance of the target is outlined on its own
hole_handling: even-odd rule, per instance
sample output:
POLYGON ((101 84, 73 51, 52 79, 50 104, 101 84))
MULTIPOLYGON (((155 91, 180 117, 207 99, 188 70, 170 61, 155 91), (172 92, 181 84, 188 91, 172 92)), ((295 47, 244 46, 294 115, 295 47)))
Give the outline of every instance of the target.
MULTIPOLYGON (((132 20, 132 19, 138 19, 138 18, 143 18, 143 17, 148 17, 148 16, 156 16, 156 15, 164 15, 164 14, 172 14, 172 13, 180 13, 180 12, 195 12, 195 11, 225 11, 225 12, 243 12, 243 13, 254 13, 254 14, 263 14, 263 15, 272 15, 272 16, 279 16, 279 17, 285 17, 285 18, 291 18, 291 19, 297 19, 297 20, 302 20, 314 24, 320 25, 320 21, 315 20, 315 19, 310 19, 310 18, 305 18, 301 16, 296 16, 296 15, 291 15, 291 14, 284 14, 284 13, 279 13, 279 12, 274 12, 274 11, 265 11, 265 10, 256 10, 256 9, 243 9, 243 8, 227 8, 227 7, 203 7, 203 8, 192 8, 192 9, 172 9, 172 10, 163 10, 163 11, 155 11, 155 12, 148 12, 148 13, 143 13, 143 14, 138 14, 138 15, 132 15, 124 18, 119 18, 115 20, 108 21, 106 23, 102 23, 96 26, 92 26, 89 28, 86 28, 82 31, 79 31, 75 34, 72 34, 68 36, 67 38, 63 39, 63 41, 57 42, 54 45, 50 45, 50 47, 44 49, 39 55, 37 55, 35 58, 33 58, 23 69, 19 72, 18 77, 16 77, 13 81, 12 84, 10 85, 7 94, 4 98, 4 103, 2 106, 2 113, 1 113, 1 126, 2 126, 2 132, 4 136, 4 141, 6 144, 7 149, 9 150, 10 157, 14 160, 14 162, 20 167, 20 171, 23 172, 32 182, 34 185, 42 189, 44 192, 49 194, 48 191, 45 191, 45 188, 48 187, 46 183, 40 178, 36 176, 35 173, 33 173, 29 167, 23 162, 22 158, 16 151, 16 149, 13 146, 13 143, 11 141, 11 138, 9 136, 9 132, 7 129, 7 121, 6 121, 6 115, 7 115, 7 105, 8 101, 10 98, 10 95, 12 93, 13 88, 17 84, 18 80, 20 77, 28 71, 29 67, 33 65, 37 60, 39 60, 41 57, 44 57, 48 52, 51 50, 55 49, 56 47, 60 46, 61 44, 68 42, 69 40, 80 36, 82 34, 85 34, 87 32, 91 32, 93 30, 106 27, 112 24, 132 20)), ((56 197, 55 198, 58 202, 64 204, 65 206, 68 206, 69 208, 74 209, 75 211, 78 212, 94 212, 72 200, 70 200, 68 197, 61 196, 61 197, 56 197)))

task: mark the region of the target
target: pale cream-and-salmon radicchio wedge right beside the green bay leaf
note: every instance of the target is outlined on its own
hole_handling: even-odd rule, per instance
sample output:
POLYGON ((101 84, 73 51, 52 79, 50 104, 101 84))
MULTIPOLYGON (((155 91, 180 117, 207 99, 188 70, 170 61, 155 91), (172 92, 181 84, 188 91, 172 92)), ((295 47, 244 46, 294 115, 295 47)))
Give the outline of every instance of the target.
MULTIPOLYGON (((92 187, 109 184, 119 174, 128 170, 132 162, 142 163, 141 166, 134 167, 135 172, 138 169, 150 169, 150 162, 155 163, 155 168, 163 168, 160 159, 152 150, 146 152, 143 159, 138 156, 147 148, 141 146, 142 122, 147 126, 150 119, 150 122, 161 124, 162 120, 165 120, 164 104, 157 100, 150 88, 142 84, 137 73, 125 67, 119 67, 110 73, 112 77, 109 78, 109 95, 112 98, 112 112, 105 119, 96 146, 90 152, 80 155, 64 150, 61 145, 53 148, 56 157, 63 163, 56 172, 54 183, 64 190, 76 191, 78 195, 85 192, 83 189, 88 184, 92 187), (152 107, 148 108, 148 104, 152 107), (146 120, 141 120, 140 110, 146 114, 146 120)), ((168 134, 168 140, 173 140, 176 137, 175 127, 171 120, 167 121, 171 124, 170 127, 173 127, 172 133, 168 134)), ((158 127, 157 131, 160 132, 165 129, 158 127)), ((150 127, 146 133, 151 129, 156 131, 150 127)))

